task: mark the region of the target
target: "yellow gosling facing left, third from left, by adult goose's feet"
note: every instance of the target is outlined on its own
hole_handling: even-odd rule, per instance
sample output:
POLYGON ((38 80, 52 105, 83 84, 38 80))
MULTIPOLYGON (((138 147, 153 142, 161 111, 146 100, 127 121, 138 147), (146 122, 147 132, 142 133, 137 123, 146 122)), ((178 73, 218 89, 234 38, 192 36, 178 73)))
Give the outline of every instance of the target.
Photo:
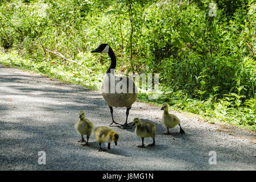
POLYGON ((137 146, 139 148, 144 148, 144 138, 151 137, 153 143, 148 144, 148 146, 155 146, 155 125, 151 122, 141 122, 141 119, 134 118, 134 125, 136 125, 135 134, 142 139, 142 145, 137 146))

